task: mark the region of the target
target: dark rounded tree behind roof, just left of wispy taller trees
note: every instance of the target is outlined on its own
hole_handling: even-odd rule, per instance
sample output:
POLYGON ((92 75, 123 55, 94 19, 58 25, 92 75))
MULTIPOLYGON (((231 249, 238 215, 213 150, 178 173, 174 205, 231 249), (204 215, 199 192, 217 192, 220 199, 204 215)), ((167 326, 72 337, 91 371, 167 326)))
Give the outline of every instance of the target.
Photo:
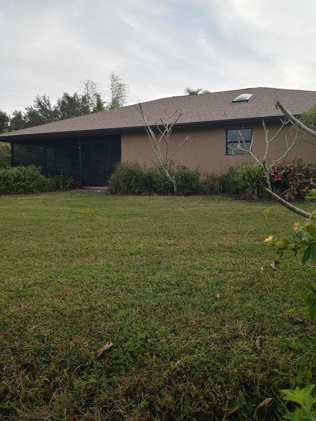
POLYGON ((75 92, 73 95, 64 92, 62 97, 57 99, 54 110, 59 120, 90 114, 87 98, 78 92, 75 92))

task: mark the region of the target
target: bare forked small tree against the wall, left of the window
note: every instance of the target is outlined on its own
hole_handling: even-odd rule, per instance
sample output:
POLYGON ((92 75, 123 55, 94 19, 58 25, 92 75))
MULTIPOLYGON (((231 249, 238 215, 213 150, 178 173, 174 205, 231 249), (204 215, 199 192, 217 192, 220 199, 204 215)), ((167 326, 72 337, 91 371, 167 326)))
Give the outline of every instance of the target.
POLYGON ((177 181, 173 175, 171 175, 170 167, 171 167, 171 157, 178 151, 179 148, 181 148, 182 145, 184 145, 188 140, 193 139, 195 136, 188 137, 184 135, 184 141, 172 152, 169 152, 169 138, 173 129, 173 126, 176 124, 176 122, 181 117, 181 113, 179 110, 175 111, 172 115, 168 115, 168 113, 164 110, 165 115, 167 116, 166 121, 164 122, 162 118, 160 118, 162 129, 158 126, 156 123, 156 129, 160 133, 160 136, 157 137, 154 130, 151 128, 150 124, 147 121, 147 118, 145 116, 142 104, 139 103, 138 107, 136 107, 139 114, 142 116, 144 122, 145 122, 145 129, 147 131, 147 134, 150 139, 150 143, 152 146, 152 150, 155 153, 156 161, 154 161, 152 158, 150 158, 148 155, 146 155, 154 165, 156 165, 161 171, 164 172, 167 179, 172 183, 173 185, 173 191, 176 195, 178 193, 177 189, 177 181), (164 140, 164 144, 161 144, 161 141, 164 140))

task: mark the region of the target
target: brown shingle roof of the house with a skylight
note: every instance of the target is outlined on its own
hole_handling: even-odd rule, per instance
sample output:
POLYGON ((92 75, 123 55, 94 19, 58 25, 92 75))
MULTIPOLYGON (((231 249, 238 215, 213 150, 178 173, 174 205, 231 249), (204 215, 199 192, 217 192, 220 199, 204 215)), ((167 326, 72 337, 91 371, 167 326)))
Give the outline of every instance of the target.
MULTIPOLYGON (((316 92, 264 87, 246 88, 162 98, 142 103, 142 106, 151 125, 156 122, 159 123, 160 117, 165 116, 164 110, 169 114, 179 110, 182 116, 177 124, 192 124, 282 116, 281 111, 275 108, 276 101, 282 102, 292 114, 297 115, 316 105, 316 92), (248 103, 233 104, 232 101, 242 93, 251 93, 254 96, 248 103)), ((142 126, 143 120, 135 105, 129 105, 115 110, 102 111, 5 133, 0 135, 0 140, 11 141, 13 140, 12 137, 22 139, 24 136, 48 133, 66 134, 97 130, 126 130, 142 126)))

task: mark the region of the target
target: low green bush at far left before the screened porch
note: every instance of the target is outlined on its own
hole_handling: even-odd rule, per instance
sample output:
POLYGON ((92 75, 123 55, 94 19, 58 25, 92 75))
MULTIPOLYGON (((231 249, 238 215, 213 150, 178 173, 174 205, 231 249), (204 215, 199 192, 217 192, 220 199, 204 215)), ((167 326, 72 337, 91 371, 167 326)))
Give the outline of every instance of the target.
POLYGON ((49 189, 39 167, 0 168, 0 193, 33 193, 49 189))

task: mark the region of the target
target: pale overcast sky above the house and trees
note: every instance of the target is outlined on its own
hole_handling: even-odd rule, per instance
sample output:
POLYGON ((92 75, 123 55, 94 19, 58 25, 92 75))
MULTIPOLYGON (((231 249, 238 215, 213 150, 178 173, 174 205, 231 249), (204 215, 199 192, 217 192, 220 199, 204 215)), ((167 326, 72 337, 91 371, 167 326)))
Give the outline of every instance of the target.
POLYGON ((316 90, 315 0, 0 0, 0 108, 111 72, 128 104, 247 87, 316 90))

